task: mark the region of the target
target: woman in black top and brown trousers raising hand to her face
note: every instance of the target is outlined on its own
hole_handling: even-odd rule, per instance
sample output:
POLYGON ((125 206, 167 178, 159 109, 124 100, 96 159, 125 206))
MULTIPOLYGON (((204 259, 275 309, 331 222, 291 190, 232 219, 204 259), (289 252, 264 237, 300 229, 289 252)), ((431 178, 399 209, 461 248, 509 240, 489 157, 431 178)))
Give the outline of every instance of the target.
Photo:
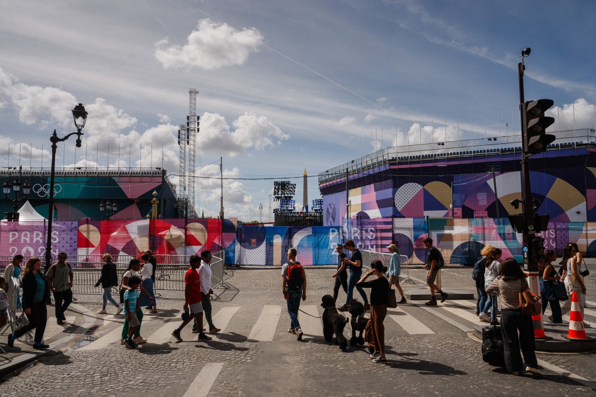
POLYGON ((387 292, 389 281, 383 276, 387 267, 381 261, 371 263, 371 270, 367 271, 358 281, 361 288, 371 289, 371 332, 373 334, 374 351, 371 354, 374 362, 387 362, 385 358, 385 326, 383 321, 387 315, 387 292), (374 274, 377 279, 367 281, 368 276, 374 274))

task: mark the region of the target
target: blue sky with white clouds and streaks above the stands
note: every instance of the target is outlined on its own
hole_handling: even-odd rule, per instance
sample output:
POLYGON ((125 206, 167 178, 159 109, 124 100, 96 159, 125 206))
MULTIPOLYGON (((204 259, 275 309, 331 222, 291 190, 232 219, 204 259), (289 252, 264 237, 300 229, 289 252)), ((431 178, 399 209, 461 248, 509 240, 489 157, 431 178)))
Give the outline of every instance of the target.
POLYGON ((262 204, 266 222, 274 180, 302 208, 305 168, 311 201, 318 173, 374 150, 519 135, 526 47, 525 98, 555 102, 551 130, 596 127, 596 2, 471 4, 4 0, 0 167, 49 167, 80 102, 82 148, 59 146, 57 166, 163 166, 177 183, 194 88, 197 213, 219 214, 221 157, 225 216, 262 204))

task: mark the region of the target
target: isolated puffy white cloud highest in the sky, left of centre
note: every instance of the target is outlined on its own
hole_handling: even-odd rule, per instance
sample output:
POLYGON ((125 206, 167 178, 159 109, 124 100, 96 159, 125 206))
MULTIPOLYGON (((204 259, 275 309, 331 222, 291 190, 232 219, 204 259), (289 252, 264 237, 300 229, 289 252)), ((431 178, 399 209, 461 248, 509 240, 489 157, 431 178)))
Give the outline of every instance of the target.
POLYGON ((198 21, 197 29, 188 35, 185 45, 169 45, 168 39, 157 42, 155 57, 166 69, 213 70, 243 64, 262 42, 263 35, 257 29, 237 30, 205 18, 198 21))

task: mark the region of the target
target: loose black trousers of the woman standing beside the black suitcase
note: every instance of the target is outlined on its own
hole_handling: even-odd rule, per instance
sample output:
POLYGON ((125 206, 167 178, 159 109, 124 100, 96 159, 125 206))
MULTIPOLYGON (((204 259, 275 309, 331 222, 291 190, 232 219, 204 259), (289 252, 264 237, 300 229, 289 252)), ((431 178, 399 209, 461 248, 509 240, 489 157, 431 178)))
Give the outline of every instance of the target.
POLYGON ((524 315, 521 309, 503 309, 501 312, 501 333, 505 353, 505 365, 510 372, 522 370, 523 359, 526 367, 538 368, 536 360, 536 343, 532 317, 524 315), (517 332, 519 331, 519 336, 517 332))

